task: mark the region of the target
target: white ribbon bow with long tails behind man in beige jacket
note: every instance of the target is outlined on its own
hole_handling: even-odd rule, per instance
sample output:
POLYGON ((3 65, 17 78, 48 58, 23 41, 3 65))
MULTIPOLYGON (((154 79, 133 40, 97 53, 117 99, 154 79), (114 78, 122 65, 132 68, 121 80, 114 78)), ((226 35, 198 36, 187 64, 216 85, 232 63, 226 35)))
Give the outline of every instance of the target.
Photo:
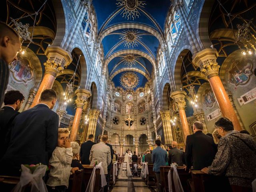
POLYGON ((86 192, 93 192, 94 191, 95 177, 96 177, 95 171, 96 171, 96 169, 100 169, 101 187, 104 187, 107 184, 105 174, 104 174, 104 169, 101 165, 102 165, 102 162, 100 162, 98 165, 96 165, 93 168, 88 186, 86 187, 86 192))

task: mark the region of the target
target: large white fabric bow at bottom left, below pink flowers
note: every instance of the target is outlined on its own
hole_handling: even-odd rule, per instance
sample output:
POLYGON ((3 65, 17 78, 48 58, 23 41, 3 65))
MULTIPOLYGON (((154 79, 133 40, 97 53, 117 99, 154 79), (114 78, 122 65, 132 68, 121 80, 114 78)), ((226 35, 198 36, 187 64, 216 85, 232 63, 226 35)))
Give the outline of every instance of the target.
POLYGON ((32 174, 29 168, 21 165, 22 172, 20 176, 20 182, 18 182, 12 192, 22 192, 22 188, 29 183, 31 184, 31 192, 48 192, 42 179, 46 172, 46 168, 46 165, 40 165, 34 170, 32 174))

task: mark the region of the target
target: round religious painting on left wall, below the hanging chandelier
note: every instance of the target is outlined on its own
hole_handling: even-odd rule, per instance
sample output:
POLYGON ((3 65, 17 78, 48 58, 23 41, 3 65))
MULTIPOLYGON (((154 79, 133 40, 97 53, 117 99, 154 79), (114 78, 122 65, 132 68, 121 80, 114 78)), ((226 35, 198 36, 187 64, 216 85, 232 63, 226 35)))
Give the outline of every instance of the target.
POLYGON ((34 80, 34 67, 28 60, 20 58, 12 62, 10 74, 14 82, 27 85, 28 82, 34 80))

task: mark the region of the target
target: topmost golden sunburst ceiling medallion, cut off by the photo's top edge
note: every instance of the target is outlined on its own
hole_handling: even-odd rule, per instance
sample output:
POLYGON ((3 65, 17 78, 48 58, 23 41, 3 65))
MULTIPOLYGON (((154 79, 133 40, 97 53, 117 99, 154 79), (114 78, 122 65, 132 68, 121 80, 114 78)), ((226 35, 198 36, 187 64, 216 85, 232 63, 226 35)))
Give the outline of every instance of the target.
POLYGON ((123 14, 123 17, 127 20, 134 18, 139 18, 140 13, 139 9, 144 8, 145 1, 139 1, 139 0, 117 0, 118 3, 116 3, 117 7, 121 7, 121 10, 124 9, 121 14, 123 14))

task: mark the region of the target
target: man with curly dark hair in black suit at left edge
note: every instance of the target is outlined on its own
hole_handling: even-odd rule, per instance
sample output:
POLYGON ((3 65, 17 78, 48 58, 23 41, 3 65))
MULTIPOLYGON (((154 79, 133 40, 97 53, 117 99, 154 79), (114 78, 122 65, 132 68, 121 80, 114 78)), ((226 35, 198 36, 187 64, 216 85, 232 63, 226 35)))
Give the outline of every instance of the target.
POLYGON ((4 156, 8 147, 9 135, 7 132, 10 129, 12 121, 20 113, 20 107, 24 102, 24 96, 21 92, 11 90, 6 92, 4 96, 4 107, 0 110, 0 159, 4 156), (6 141, 6 142, 5 142, 6 141))

